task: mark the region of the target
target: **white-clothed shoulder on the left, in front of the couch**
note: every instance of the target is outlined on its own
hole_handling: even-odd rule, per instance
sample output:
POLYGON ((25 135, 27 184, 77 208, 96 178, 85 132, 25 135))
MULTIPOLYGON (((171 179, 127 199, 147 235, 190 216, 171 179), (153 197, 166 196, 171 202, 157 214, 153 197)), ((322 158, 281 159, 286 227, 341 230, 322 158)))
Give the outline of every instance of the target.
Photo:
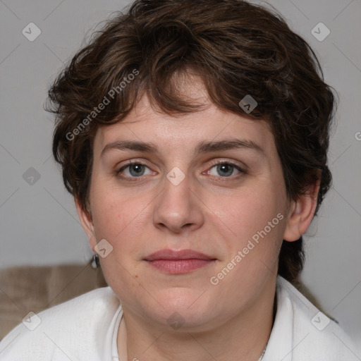
POLYGON ((32 312, 0 342, 0 358, 79 360, 77 355, 90 355, 98 360, 96 354, 102 354, 119 312, 120 302, 110 287, 97 288, 38 314, 32 312))

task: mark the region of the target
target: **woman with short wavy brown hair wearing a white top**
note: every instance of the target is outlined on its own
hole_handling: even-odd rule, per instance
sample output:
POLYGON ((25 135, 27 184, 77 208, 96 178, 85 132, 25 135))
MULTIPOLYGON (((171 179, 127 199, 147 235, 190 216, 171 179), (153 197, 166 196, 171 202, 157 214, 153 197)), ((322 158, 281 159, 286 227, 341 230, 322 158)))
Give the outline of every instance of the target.
POLYGON ((245 1, 139 0, 109 20, 49 90, 109 287, 25 320, 1 360, 360 360, 292 286, 331 184, 318 72, 245 1))

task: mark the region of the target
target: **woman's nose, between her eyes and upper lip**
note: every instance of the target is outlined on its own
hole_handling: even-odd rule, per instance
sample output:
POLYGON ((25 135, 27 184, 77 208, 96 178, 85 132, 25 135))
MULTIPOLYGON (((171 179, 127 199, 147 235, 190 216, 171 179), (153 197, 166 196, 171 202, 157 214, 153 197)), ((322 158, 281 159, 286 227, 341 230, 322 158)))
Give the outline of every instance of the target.
POLYGON ((171 233, 194 231, 202 226, 202 202, 196 191, 190 189, 187 176, 178 185, 164 179, 163 191, 155 200, 153 222, 157 228, 171 233))

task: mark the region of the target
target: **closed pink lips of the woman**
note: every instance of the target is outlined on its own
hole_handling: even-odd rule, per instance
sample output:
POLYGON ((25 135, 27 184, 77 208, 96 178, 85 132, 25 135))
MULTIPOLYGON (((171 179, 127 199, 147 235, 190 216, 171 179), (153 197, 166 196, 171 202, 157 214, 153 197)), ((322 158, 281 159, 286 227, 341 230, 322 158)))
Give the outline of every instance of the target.
POLYGON ((150 266, 168 274, 187 274, 213 264, 216 258, 193 250, 160 250, 144 259, 150 266))

